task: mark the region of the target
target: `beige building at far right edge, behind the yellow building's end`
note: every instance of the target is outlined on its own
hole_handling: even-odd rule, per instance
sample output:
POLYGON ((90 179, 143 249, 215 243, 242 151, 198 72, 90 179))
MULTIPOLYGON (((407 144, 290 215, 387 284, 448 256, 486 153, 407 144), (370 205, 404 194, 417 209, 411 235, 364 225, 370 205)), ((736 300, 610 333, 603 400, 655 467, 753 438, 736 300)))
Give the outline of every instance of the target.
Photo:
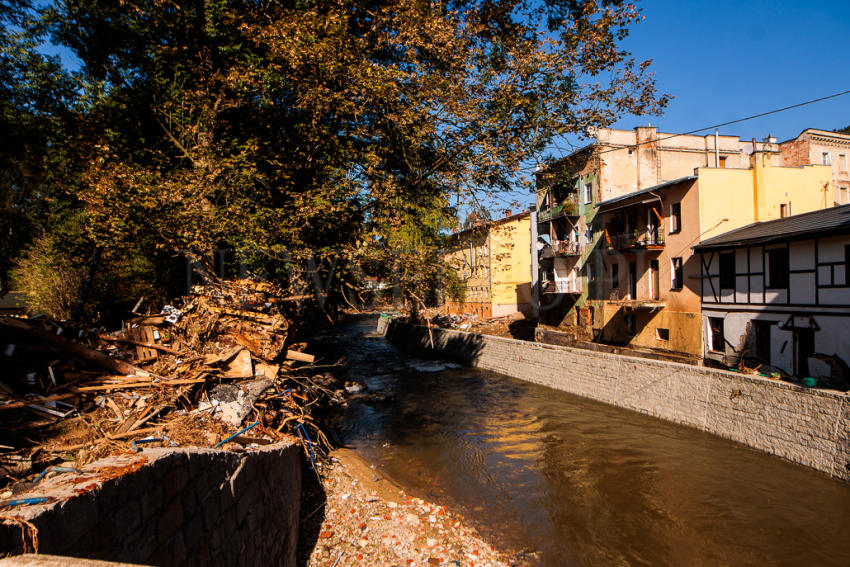
POLYGON ((828 165, 832 168, 833 203, 850 204, 850 134, 807 128, 779 144, 782 165, 828 165))

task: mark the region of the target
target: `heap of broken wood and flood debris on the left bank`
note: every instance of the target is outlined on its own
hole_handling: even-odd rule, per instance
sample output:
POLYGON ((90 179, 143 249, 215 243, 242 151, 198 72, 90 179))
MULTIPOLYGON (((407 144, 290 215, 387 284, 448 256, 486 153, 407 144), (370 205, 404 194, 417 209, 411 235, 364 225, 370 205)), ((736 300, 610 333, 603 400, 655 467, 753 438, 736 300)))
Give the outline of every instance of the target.
POLYGON ((292 342, 304 299, 239 280, 196 286, 112 333, 0 317, 0 485, 17 492, 48 467, 143 443, 238 450, 294 437, 315 459, 328 446, 315 410, 335 393, 292 342))

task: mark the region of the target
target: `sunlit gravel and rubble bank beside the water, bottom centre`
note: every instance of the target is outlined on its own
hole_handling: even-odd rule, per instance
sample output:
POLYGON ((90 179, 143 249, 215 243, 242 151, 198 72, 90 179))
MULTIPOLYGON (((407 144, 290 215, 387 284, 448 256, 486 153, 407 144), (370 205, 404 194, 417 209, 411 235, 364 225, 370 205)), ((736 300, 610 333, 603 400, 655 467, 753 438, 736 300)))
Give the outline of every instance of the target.
POLYGON ((495 550, 459 514, 410 496, 354 451, 337 449, 331 453, 321 486, 325 501, 303 514, 302 530, 315 534, 315 545, 312 550, 302 549, 300 564, 526 564, 495 550))

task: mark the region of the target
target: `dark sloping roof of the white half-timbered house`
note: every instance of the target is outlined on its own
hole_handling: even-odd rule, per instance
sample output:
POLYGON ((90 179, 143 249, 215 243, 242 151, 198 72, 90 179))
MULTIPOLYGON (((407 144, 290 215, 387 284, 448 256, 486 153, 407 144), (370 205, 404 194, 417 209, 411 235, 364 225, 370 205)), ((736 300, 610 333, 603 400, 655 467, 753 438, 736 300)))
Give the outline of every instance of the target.
POLYGON ((709 238, 694 246, 694 250, 701 252, 847 233, 850 233, 850 205, 842 205, 784 219, 753 223, 709 238))

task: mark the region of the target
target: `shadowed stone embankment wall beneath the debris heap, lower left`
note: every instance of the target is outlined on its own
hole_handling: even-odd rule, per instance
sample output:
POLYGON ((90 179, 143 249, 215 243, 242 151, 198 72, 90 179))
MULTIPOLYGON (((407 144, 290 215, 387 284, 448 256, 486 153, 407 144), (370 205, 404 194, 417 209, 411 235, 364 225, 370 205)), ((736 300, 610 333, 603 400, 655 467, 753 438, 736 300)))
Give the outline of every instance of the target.
POLYGON ((63 473, 6 511, 0 555, 38 551, 146 565, 295 565, 301 452, 149 449, 63 473), (10 521, 11 516, 30 526, 10 521), (33 533, 33 529, 37 533, 33 533), (24 549, 24 542, 27 549, 24 549))

